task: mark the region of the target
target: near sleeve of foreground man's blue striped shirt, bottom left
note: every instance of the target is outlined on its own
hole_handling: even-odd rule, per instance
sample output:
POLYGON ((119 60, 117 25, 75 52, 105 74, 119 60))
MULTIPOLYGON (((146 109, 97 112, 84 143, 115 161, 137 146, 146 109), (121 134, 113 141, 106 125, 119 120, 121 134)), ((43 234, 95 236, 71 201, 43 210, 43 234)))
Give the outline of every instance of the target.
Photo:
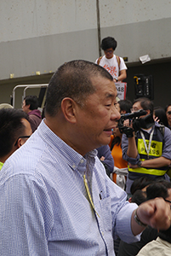
POLYGON ((4 183, 0 193, 0 255, 48 256, 53 212, 43 182, 15 175, 4 183))

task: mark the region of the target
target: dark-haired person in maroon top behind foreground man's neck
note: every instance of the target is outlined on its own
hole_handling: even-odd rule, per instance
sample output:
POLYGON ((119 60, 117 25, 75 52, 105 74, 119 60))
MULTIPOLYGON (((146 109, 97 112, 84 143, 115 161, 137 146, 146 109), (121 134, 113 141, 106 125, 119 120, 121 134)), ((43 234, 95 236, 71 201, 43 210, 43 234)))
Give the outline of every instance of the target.
POLYGON ((37 96, 26 96, 22 103, 22 109, 29 115, 32 132, 37 130, 38 125, 42 121, 42 115, 38 108, 37 96))

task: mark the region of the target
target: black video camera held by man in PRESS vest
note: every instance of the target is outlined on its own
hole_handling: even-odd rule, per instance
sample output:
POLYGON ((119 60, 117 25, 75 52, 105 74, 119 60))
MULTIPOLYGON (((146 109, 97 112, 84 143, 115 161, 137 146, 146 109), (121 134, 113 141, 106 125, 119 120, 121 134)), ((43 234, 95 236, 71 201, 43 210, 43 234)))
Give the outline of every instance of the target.
POLYGON ((140 131, 140 129, 149 129, 154 125, 154 119, 152 113, 147 114, 144 118, 140 116, 145 115, 147 112, 140 109, 134 113, 125 113, 121 115, 118 120, 118 128, 121 133, 125 133, 127 137, 133 137, 133 131, 140 131), (132 122, 133 128, 123 125, 124 120, 129 119, 132 122))

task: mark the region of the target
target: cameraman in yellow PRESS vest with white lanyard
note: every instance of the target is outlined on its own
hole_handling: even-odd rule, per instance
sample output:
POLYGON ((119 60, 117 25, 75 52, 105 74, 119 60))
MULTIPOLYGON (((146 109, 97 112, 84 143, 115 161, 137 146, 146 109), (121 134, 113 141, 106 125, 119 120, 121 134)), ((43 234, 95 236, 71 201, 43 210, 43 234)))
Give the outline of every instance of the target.
MULTIPOLYGON (((153 113, 153 102, 147 98, 138 98, 133 103, 132 112, 140 109, 145 110, 147 114, 153 113)), ((145 116, 141 116, 143 119, 145 116)), ((129 120, 126 120, 126 123, 129 120)), ((129 128, 133 124, 127 125, 129 128)), ((171 131, 164 127, 164 132, 160 125, 155 122, 148 129, 140 128, 127 137, 123 134, 122 148, 123 159, 128 161, 128 178, 126 183, 126 192, 130 195, 130 187, 136 178, 147 176, 152 180, 164 178, 164 174, 171 164, 171 131)))

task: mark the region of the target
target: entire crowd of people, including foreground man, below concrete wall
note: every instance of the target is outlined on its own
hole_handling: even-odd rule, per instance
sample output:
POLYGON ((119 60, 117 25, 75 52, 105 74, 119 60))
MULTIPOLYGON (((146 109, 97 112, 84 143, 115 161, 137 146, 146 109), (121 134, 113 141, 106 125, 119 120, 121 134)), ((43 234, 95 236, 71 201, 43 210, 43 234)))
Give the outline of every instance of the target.
POLYGON ((37 96, 0 109, 0 255, 170 255, 171 104, 119 100, 101 47, 58 68, 43 119, 37 96))

